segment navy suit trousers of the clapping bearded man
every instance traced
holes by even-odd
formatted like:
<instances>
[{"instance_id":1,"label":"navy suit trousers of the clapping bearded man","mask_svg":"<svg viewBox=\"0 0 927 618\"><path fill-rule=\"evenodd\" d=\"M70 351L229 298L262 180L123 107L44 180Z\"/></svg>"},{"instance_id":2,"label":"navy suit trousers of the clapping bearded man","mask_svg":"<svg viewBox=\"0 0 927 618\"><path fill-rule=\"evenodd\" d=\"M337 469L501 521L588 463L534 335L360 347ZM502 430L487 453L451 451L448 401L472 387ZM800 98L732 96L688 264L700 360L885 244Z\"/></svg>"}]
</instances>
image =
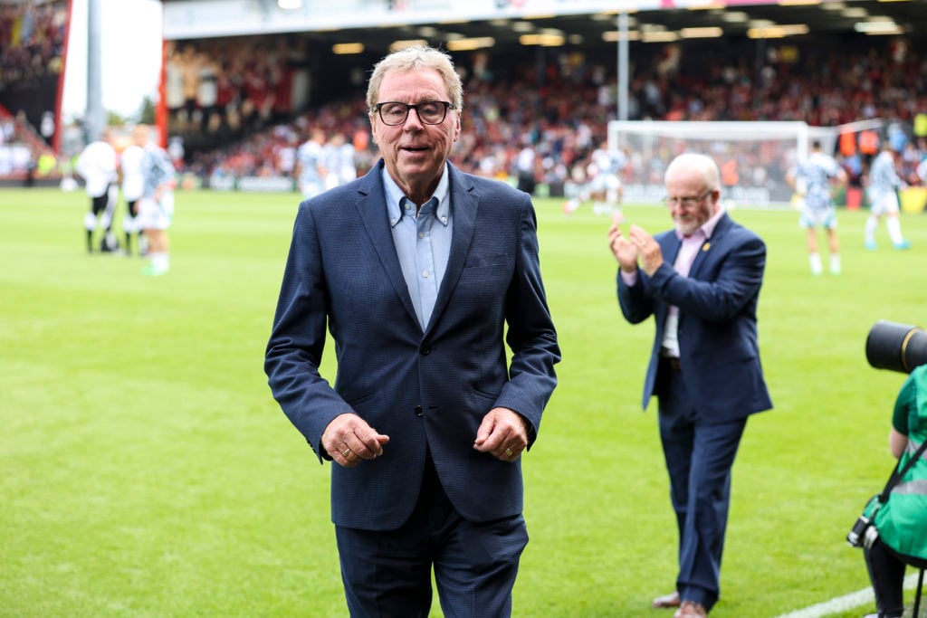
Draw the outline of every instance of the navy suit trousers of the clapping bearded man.
<instances>
[{"instance_id":1,"label":"navy suit trousers of the clapping bearded man","mask_svg":"<svg viewBox=\"0 0 927 618\"><path fill-rule=\"evenodd\" d=\"M684 371L661 359L656 389L670 498L679 524L676 589L682 599L711 610L720 595L730 469L746 419L705 423L687 397Z\"/></svg>"}]
</instances>

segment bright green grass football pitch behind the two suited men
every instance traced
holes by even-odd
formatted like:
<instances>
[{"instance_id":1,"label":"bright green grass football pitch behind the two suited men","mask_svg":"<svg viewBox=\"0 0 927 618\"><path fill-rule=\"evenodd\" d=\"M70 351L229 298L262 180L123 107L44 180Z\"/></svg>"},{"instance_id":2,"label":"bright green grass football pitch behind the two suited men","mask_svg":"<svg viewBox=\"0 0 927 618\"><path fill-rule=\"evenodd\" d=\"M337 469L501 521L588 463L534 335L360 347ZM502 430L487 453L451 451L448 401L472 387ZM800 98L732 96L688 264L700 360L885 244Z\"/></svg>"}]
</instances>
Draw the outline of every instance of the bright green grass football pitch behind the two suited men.
<instances>
[{"instance_id":1,"label":"bright green grass football pitch behind the two suited men","mask_svg":"<svg viewBox=\"0 0 927 618\"><path fill-rule=\"evenodd\" d=\"M514 615L668 618L650 600L673 586L675 524L655 403L639 406L653 325L617 308L608 218L561 201L536 200L564 360L525 460ZM347 614L328 469L262 372L298 195L176 202L171 272L148 278L137 257L85 253L83 192L0 190L0 616ZM768 244L775 410L747 424L712 616L772 618L869 585L844 536L890 471L904 375L864 345L880 319L927 326L927 217L903 215L911 250L882 227L869 252L866 213L842 211L844 272L812 277L794 211L732 215Z\"/></svg>"}]
</instances>

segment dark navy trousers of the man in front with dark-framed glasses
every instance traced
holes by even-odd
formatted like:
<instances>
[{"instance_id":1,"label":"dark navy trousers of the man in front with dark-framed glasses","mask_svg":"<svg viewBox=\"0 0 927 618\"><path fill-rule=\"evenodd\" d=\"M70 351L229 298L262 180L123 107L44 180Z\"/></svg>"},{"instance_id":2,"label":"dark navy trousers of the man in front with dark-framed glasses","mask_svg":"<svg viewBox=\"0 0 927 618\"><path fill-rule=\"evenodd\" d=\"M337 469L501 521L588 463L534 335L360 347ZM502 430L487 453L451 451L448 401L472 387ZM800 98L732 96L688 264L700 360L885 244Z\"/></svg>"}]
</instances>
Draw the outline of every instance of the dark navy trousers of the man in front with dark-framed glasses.
<instances>
[{"instance_id":1,"label":"dark navy trousers of the man in front with dark-framed glasses","mask_svg":"<svg viewBox=\"0 0 927 618\"><path fill-rule=\"evenodd\" d=\"M352 618L427 618L431 569L446 618L504 618L527 546L521 515L469 522L451 505L430 457L409 521L370 532L336 526L341 576Z\"/></svg>"}]
</instances>

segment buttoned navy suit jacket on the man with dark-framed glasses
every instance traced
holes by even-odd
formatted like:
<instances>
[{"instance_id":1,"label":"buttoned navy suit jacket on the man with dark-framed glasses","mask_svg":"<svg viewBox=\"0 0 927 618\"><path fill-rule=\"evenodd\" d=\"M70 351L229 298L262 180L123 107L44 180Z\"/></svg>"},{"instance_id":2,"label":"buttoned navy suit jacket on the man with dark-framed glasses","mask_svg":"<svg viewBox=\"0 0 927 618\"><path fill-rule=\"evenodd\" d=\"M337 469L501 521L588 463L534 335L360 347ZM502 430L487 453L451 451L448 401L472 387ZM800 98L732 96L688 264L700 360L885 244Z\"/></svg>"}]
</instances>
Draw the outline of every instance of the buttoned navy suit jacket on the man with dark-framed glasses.
<instances>
[{"instance_id":1,"label":"buttoned navy suit jacket on the man with dark-framed glasses","mask_svg":"<svg viewBox=\"0 0 927 618\"><path fill-rule=\"evenodd\" d=\"M533 439L556 385L560 349L531 199L448 164L451 253L423 331L387 221L382 170L381 160L299 205L265 357L273 397L320 459L329 459L320 445L326 425L344 412L389 435L381 457L332 466L338 525L400 527L418 498L427 450L465 518L518 514L521 458L498 460L473 444L496 406L527 419ZM326 328L334 386L319 374Z\"/></svg>"}]
</instances>

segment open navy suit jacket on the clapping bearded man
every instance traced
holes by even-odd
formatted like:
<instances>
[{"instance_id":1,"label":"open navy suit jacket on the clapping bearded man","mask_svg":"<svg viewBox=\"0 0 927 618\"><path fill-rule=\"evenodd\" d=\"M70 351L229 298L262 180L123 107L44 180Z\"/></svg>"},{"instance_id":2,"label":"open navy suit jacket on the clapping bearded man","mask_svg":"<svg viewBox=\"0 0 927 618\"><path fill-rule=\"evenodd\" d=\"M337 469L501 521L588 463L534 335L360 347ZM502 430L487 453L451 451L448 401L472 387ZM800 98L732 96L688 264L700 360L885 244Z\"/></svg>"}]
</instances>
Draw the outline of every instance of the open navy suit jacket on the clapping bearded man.
<instances>
[{"instance_id":1,"label":"open navy suit jacket on the clapping bearded man","mask_svg":"<svg viewBox=\"0 0 927 618\"><path fill-rule=\"evenodd\" d=\"M673 270L681 241L675 231L654 236L664 263L628 286L617 277L618 302L632 324L654 316L656 335L642 406L657 387L660 347L670 305L679 308L679 361L692 407L708 422L727 422L769 410L759 359L756 302L766 267L766 245L725 213L699 250L688 277Z\"/></svg>"}]
</instances>

